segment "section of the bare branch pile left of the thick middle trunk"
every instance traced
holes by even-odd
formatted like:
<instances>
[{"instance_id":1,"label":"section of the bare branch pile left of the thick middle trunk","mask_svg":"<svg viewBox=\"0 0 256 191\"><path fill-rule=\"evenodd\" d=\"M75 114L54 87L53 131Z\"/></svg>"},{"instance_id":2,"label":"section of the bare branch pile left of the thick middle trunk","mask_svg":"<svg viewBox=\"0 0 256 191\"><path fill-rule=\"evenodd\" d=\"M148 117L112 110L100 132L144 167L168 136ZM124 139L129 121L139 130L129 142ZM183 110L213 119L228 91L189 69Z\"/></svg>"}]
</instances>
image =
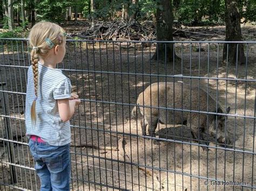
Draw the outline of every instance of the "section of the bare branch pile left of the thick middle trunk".
<instances>
[{"instance_id":1,"label":"section of the bare branch pile left of the thick middle trunk","mask_svg":"<svg viewBox=\"0 0 256 191\"><path fill-rule=\"evenodd\" d=\"M87 22L83 24L89 26ZM155 40L156 26L151 21L97 21L94 27L86 27L83 31L69 34L69 37L90 40Z\"/></svg>"}]
</instances>

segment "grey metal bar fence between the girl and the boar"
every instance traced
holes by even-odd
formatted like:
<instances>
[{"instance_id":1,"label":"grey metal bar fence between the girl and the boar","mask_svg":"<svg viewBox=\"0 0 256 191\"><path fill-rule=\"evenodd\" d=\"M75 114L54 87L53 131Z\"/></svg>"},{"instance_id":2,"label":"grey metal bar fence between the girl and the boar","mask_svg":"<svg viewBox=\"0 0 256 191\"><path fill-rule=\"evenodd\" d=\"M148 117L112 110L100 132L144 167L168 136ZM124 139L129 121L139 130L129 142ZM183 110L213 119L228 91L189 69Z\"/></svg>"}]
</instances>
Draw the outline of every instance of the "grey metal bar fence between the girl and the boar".
<instances>
[{"instance_id":1,"label":"grey metal bar fence between the girl and the boar","mask_svg":"<svg viewBox=\"0 0 256 191\"><path fill-rule=\"evenodd\" d=\"M256 43L226 44L234 63L223 62L225 44L68 40L58 68L82 100L70 121L71 189L256 188ZM0 46L0 187L39 190L24 123L28 41Z\"/></svg>"}]
</instances>

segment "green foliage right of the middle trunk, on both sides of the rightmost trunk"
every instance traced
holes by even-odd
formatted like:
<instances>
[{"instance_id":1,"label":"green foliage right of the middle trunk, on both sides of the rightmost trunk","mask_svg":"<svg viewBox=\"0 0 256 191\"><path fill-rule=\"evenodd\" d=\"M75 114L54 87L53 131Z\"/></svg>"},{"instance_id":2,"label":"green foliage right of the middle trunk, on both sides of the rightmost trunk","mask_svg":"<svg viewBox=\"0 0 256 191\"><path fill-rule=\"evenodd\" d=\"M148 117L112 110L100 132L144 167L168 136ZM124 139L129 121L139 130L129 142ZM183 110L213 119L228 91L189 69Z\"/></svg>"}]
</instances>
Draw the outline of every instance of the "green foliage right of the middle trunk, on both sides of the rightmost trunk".
<instances>
[{"instance_id":1,"label":"green foliage right of the middle trunk, on both sides of the rightmost trunk","mask_svg":"<svg viewBox=\"0 0 256 191\"><path fill-rule=\"evenodd\" d=\"M178 2L178 3L177 3ZM173 0L174 19L185 24L225 24L225 0ZM256 20L256 1L239 0L241 18Z\"/></svg>"}]
</instances>

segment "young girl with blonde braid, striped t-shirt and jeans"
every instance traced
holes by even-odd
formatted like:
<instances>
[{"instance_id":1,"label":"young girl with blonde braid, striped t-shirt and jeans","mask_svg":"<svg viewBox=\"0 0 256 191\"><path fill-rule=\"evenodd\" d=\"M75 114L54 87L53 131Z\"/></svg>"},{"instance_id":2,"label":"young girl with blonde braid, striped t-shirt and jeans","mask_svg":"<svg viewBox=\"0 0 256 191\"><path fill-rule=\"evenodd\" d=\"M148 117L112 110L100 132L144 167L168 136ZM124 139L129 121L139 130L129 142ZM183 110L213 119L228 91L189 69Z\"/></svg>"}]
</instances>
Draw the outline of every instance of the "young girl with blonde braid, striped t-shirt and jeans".
<instances>
[{"instance_id":1,"label":"young girl with blonde braid, striped t-shirt and jeans","mask_svg":"<svg viewBox=\"0 0 256 191\"><path fill-rule=\"evenodd\" d=\"M40 22L29 34L32 65L28 70L25 123L30 152L41 180L41 190L70 190L70 122L78 95L57 69L65 55L62 27Z\"/></svg>"}]
</instances>

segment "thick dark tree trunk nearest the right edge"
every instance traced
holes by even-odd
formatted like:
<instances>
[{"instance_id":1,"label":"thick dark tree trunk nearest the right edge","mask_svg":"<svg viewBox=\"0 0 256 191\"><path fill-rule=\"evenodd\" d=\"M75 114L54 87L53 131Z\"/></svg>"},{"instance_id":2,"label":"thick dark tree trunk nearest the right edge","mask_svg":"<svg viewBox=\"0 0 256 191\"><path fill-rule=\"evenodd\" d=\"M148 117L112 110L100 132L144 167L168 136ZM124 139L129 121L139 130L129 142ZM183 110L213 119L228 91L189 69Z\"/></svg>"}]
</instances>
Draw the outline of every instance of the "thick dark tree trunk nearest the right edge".
<instances>
[{"instance_id":1,"label":"thick dark tree trunk nearest the right edge","mask_svg":"<svg viewBox=\"0 0 256 191\"><path fill-rule=\"evenodd\" d=\"M240 18L238 1L225 0L226 41L242 40ZM228 43L227 49L227 44L225 44L223 48L223 62L227 62L227 53L230 63L235 64L237 62L237 56L238 63L245 63L244 45Z\"/></svg>"}]
</instances>

